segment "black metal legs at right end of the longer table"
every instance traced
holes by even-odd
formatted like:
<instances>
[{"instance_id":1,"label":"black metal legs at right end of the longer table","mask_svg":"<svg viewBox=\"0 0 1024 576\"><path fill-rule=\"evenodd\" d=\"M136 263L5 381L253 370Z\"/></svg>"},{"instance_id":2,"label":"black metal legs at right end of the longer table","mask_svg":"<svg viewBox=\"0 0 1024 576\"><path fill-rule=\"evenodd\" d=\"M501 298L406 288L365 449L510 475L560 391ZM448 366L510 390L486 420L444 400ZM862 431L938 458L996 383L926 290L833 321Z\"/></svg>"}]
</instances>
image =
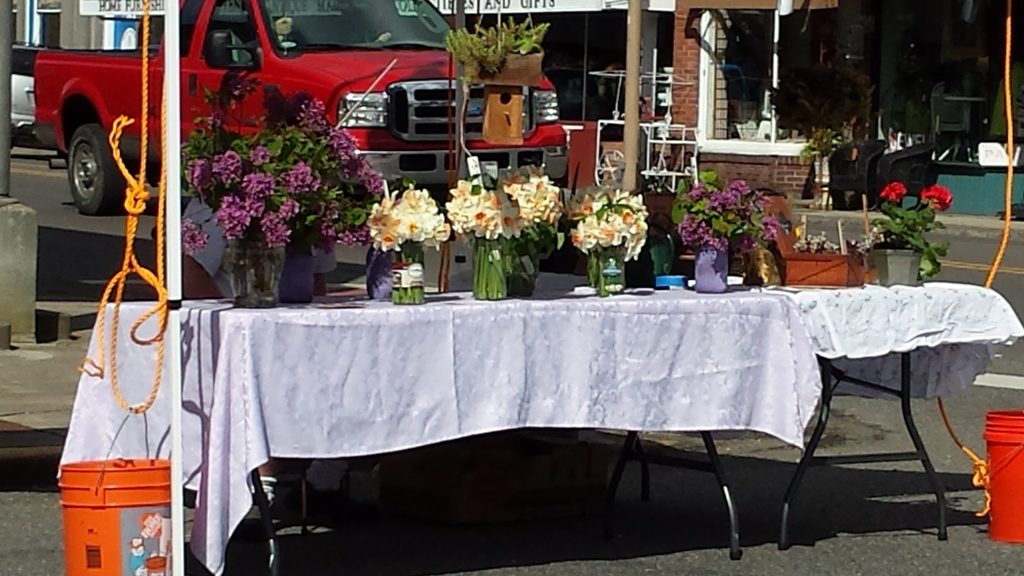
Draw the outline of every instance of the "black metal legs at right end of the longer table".
<instances>
[{"instance_id":1,"label":"black metal legs at right end of the longer table","mask_svg":"<svg viewBox=\"0 0 1024 576\"><path fill-rule=\"evenodd\" d=\"M615 468L611 472L611 481L608 484L608 492L604 504L604 536L611 538L613 533L612 509L615 505L615 494L618 491L618 484L623 480L623 472L626 470L626 463L630 460L640 462L640 499L644 502L650 500L650 468L649 463L663 466L673 466L691 470L714 472L718 486L722 490L722 497L725 500L725 507L729 513L729 559L739 560L743 556L743 550L739 546L739 513L736 505L732 501L732 492L729 490L729 482L725 476L725 466L718 455L715 447L715 439L710 431L701 431L700 438L703 440L707 460L695 460L675 456L660 456L657 454L647 454L644 452L643 444L638 433L631 431L626 435L626 442L618 453L618 460Z\"/></svg>"}]
</instances>

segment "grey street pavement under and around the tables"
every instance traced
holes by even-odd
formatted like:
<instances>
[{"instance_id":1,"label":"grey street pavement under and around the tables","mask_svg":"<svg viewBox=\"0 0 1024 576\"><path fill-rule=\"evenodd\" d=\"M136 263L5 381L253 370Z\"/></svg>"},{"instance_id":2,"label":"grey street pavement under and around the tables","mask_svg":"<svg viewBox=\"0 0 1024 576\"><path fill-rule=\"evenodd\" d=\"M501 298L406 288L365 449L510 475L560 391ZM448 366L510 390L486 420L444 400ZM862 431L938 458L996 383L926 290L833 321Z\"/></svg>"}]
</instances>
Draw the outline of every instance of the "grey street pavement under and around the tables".
<instances>
[{"instance_id":1,"label":"grey street pavement under and around the tables","mask_svg":"<svg viewBox=\"0 0 1024 576\"><path fill-rule=\"evenodd\" d=\"M95 301L121 253L121 218L87 218L68 203L62 170L37 158L15 158L14 196L39 212L40 307L73 317L71 341L0 353L0 575L43 576L63 570L59 502L54 472L85 354ZM823 231L834 212L809 213ZM994 219L994 218L993 218ZM952 242L939 280L981 283L994 253L997 225L950 219ZM968 225L969 224L969 225ZM152 218L143 222L145 234ZM852 224L851 224L852 225ZM846 229L849 236L851 228ZM1018 229L1020 230L1020 229ZM1024 232L1024 231L1022 231ZM140 242L144 253L148 240ZM335 284L356 280L361 253L339 254ZM1024 310L1024 246L1018 236L995 288L1018 314ZM984 453L985 412L1024 408L1024 353L1007 348L992 372L950 399L951 421L965 442ZM842 398L822 442L824 453L906 450L896 403ZM918 466L877 464L812 469L794 509L798 545L777 550L779 505L799 451L759 435L720 441L740 511L743 560L730 562L721 496L712 477L652 467L652 501L638 497L631 465L621 489L615 536L602 538L601 519L459 528L382 516L351 520L335 531L284 537L283 574L349 575L860 575L972 572L1017 575L1024 547L994 543L973 515L981 493L971 488L971 464L949 440L935 404L914 402L918 423L949 489L949 541L935 538L934 499ZM698 450L699 440L652 435L666 450ZM227 573L261 574L263 546L251 526L236 537ZM190 574L203 574L195 564Z\"/></svg>"}]
</instances>

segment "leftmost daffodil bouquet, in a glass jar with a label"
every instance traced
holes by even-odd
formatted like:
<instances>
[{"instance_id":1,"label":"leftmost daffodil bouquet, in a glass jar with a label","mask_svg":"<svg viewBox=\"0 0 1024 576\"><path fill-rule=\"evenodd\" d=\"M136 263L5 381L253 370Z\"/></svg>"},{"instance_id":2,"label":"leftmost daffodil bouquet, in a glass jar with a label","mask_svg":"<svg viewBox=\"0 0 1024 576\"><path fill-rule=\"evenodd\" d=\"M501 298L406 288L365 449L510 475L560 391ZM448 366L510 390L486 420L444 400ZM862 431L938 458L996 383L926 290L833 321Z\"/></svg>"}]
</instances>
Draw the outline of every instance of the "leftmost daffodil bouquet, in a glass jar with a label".
<instances>
[{"instance_id":1,"label":"leftmost daffodil bouquet, in a glass jar with a label","mask_svg":"<svg viewBox=\"0 0 1024 576\"><path fill-rule=\"evenodd\" d=\"M397 254L391 263L391 301L421 304L424 301L423 249L437 249L452 229L437 203L425 190L410 187L395 197L385 193L370 215L370 236L378 250Z\"/></svg>"}]
</instances>

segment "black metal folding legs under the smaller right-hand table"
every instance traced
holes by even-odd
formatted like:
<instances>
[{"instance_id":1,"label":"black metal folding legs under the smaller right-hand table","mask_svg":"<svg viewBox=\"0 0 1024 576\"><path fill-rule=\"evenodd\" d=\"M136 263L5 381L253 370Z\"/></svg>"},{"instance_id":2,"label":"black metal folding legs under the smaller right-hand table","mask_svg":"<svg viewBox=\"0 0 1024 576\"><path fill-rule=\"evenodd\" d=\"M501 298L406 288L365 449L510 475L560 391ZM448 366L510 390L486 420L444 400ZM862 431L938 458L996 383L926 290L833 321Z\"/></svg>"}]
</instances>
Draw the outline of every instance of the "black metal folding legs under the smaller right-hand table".
<instances>
[{"instance_id":1,"label":"black metal folding legs under the smaller right-hand table","mask_svg":"<svg viewBox=\"0 0 1024 576\"><path fill-rule=\"evenodd\" d=\"M800 458L800 463L797 465L796 471L793 474L793 479L790 481L790 486L785 490L785 496L782 499L782 521L779 529L778 547L780 550L784 550L790 547L790 508L793 504L794 499L797 497L797 492L800 490L800 485L804 480L804 476L807 474L807 469L813 465L823 465L823 464L867 464L877 462L921 462L922 466L925 468L925 474L928 476L928 481L932 485L932 491L935 493L935 500L938 506L939 512L939 530L938 536L939 540L945 540L947 538L946 533L946 501L945 501L945 491L942 487L942 482L939 480L938 475L935 472L935 467L932 465L931 459L928 457L928 451L925 449L925 444L921 440L921 434L918 433L918 426L913 422L913 412L910 408L910 353L902 353L900 355L900 387L899 390L894 390L892 388L885 387L881 384L874 382L868 382L855 378L846 374L842 370L836 368L831 361L825 358L818 357L818 366L821 369L821 408L818 413L818 423L814 426L814 431L811 435L811 440L807 444L807 448L804 450L804 455ZM879 453L879 454L858 454L858 455L847 455L847 456L815 456L814 452L818 448L818 443L821 442L821 435L825 430L825 426L828 423L828 415L831 411L831 401L835 396L836 388L842 382L848 382L857 386L868 388L887 396L894 396L900 399L900 408L903 412L903 423L906 426L907 435L910 437L910 441L913 442L914 451L913 452L890 452L890 453Z\"/></svg>"}]
</instances>

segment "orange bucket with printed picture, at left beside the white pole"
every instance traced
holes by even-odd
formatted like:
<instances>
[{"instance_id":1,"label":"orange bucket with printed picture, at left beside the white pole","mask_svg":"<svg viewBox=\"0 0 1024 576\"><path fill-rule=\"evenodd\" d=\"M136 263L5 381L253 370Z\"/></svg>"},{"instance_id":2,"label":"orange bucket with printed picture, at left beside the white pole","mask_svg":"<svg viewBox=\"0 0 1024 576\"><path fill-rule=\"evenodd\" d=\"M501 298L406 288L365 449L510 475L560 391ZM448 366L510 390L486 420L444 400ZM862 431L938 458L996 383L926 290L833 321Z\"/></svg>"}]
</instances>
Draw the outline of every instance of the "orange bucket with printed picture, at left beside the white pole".
<instances>
[{"instance_id":1,"label":"orange bucket with printed picture, at left beside the white pole","mask_svg":"<svg viewBox=\"0 0 1024 576\"><path fill-rule=\"evenodd\" d=\"M169 461L67 464L59 486L68 576L170 573Z\"/></svg>"}]
</instances>

